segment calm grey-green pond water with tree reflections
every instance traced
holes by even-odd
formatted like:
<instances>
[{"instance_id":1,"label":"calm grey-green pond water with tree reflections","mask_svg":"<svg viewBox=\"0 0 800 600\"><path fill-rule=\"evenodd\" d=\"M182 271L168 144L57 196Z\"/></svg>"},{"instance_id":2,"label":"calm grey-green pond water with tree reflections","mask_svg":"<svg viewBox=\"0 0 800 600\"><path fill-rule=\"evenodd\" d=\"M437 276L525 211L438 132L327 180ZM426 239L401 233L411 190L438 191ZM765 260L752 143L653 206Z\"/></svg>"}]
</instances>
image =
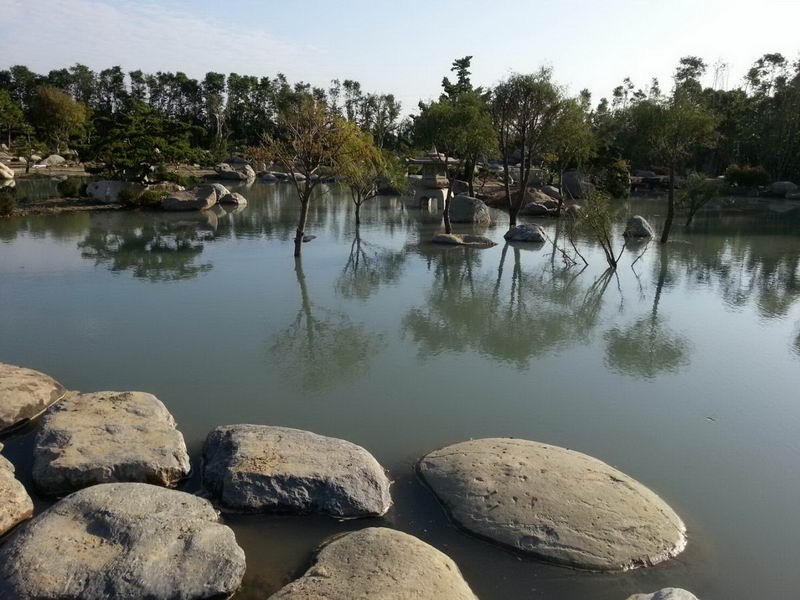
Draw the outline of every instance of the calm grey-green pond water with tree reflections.
<instances>
[{"instance_id":1,"label":"calm grey-green pond water with tree reflections","mask_svg":"<svg viewBox=\"0 0 800 600\"><path fill-rule=\"evenodd\" d=\"M585 269L549 245L503 244L500 212L488 250L425 243L439 216L396 198L366 206L356 235L335 188L314 201L317 239L296 264L291 188L240 191L249 204L230 214L0 220L0 360L72 389L156 394L195 466L212 427L248 422L346 438L390 471L383 519L226 516L248 556L237 598L265 598L325 537L372 525L449 554L483 600L623 600L665 586L703 600L796 595L796 212L708 211L665 248L626 248L607 276L588 240ZM659 227L664 207L617 209L621 231L630 214ZM2 440L29 489L32 433ZM592 574L457 530L414 463L484 436L570 447L639 479L687 522L686 552Z\"/></svg>"}]
</instances>

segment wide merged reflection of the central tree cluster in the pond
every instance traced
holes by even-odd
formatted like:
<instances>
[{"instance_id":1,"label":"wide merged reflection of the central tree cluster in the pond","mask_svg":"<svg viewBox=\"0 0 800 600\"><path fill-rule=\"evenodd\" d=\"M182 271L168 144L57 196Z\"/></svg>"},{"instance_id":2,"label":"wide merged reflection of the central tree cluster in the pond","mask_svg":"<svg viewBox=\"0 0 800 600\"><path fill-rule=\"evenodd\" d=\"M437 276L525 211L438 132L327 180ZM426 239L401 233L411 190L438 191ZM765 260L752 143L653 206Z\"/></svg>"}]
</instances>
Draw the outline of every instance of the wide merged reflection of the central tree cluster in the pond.
<instances>
[{"instance_id":1,"label":"wide merged reflection of the central tree cluster in the pond","mask_svg":"<svg viewBox=\"0 0 800 600\"><path fill-rule=\"evenodd\" d=\"M597 326L612 275L586 285L581 271L545 262L527 272L519 246L506 244L495 277L480 274L480 251L425 249L434 269L425 306L412 308L403 330L421 354L474 349L525 368L530 359L588 339ZM514 264L504 281L508 250Z\"/></svg>"}]
</instances>

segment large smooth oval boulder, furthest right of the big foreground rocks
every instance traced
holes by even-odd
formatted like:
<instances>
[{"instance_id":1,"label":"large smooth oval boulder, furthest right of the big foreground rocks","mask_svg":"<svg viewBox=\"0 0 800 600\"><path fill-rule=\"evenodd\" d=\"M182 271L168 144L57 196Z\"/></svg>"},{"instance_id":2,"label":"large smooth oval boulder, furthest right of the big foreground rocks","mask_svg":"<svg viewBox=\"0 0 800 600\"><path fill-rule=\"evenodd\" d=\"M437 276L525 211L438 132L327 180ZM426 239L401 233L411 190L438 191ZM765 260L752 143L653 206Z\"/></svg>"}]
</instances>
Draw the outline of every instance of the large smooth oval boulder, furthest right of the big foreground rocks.
<instances>
[{"instance_id":1,"label":"large smooth oval boulder, furthest right of the big foreground rocks","mask_svg":"<svg viewBox=\"0 0 800 600\"><path fill-rule=\"evenodd\" d=\"M624 571L686 546L683 522L661 498L580 452L479 439L431 452L419 472L464 529L554 563Z\"/></svg>"}]
</instances>

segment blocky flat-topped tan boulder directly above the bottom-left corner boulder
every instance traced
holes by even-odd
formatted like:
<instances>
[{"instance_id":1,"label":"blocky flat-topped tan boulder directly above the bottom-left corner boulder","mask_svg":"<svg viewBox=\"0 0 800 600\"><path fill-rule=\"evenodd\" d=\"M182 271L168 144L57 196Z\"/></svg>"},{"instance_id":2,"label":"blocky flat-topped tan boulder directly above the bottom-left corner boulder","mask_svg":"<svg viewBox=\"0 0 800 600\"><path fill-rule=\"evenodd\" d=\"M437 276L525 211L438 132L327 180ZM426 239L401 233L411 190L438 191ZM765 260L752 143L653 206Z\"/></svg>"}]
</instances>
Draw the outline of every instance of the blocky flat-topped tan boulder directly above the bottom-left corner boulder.
<instances>
[{"instance_id":1,"label":"blocky flat-topped tan boulder directly above the bottom-left corner boulder","mask_svg":"<svg viewBox=\"0 0 800 600\"><path fill-rule=\"evenodd\" d=\"M171 486L191 468L175 419L143 392L68 396L42 419L33 456L34 483L52 495L98 483Z\"/></svg>"}]
</instances>

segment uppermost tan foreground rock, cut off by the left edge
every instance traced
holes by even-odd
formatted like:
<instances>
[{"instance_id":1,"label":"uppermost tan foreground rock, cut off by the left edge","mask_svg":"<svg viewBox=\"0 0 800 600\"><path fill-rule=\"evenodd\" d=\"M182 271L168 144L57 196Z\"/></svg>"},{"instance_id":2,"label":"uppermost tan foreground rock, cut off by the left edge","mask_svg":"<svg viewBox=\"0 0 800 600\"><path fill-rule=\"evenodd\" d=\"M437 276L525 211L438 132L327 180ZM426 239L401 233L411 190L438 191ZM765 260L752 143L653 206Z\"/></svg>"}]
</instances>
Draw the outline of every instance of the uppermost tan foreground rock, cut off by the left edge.
<instances>
[{"instance_id":1,"label":"uppermost tan foreground rock, cut off by the left edge","mask_svg":"<svg viewBox=\"0 0 800 600\"><path fill-rule=\"evenodd\" d=\"M44 373L0 363L0 431L23 425L64 394L64 387Z\"/></svg>"}]
</instances>

